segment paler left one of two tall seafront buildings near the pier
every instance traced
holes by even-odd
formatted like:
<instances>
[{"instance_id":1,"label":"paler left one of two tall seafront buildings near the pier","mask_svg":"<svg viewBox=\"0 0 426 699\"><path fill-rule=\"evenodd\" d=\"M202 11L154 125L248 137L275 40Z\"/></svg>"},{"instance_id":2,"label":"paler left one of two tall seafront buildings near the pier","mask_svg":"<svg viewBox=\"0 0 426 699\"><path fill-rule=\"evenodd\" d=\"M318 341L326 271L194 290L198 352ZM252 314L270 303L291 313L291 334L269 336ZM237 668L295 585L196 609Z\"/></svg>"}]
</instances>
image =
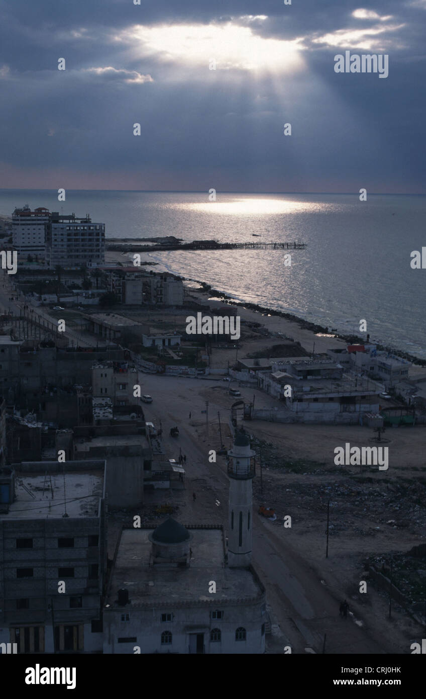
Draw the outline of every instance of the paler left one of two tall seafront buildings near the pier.
<instances>
[{"instance_id":1,"label":"paler left one of two tall seafront buildings near the pier","mask_svg":"<svg viewBox=\"0 0 426 699\"><path fill-rule=\"evenodd\" d=\"M50 212L43 207L31 211L28 204L15 208L12 215L13 247L23 261L28 255L43 261L46 256L47 231L50 226Z\"/></svg>"}]
</instances>

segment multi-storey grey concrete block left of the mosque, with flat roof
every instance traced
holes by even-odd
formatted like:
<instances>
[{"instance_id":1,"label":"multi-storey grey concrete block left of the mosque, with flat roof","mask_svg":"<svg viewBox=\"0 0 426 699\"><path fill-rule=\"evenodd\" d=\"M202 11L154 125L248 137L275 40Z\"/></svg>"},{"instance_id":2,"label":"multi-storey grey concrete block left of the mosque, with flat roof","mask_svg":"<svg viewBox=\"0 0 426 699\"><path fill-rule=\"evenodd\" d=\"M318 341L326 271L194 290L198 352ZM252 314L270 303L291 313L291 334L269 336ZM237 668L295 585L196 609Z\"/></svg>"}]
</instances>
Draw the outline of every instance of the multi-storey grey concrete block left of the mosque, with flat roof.
<instances>
[{"instance_id":1,"label":"multi-storey grey concrete block left of the mosque, with flat roof","mask_svg":"<svg viewBox=\"0 0 426 699\"><path fill-rule=\"evenodd\" d=\"M3 467L0 642L101 652L106 563L104 460Z\"/></svg>"}]
</instances>

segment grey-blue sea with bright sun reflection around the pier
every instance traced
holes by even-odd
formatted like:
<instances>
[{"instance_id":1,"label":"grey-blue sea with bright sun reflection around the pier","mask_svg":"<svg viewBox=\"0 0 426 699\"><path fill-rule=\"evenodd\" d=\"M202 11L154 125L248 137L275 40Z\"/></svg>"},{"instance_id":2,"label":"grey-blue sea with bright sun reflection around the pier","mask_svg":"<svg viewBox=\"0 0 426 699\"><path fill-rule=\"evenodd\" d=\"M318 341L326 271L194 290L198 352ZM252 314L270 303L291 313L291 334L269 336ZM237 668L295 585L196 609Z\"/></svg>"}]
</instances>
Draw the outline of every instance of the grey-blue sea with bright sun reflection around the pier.
<instances>
[{"instance_id":1,"label":"grey-blue sea with bright sun reflection around the pier","mask_svg":"<svg viewBox=\"0 0 426 699\"><path fill-rule=\"evenodd\" d=\"M142 254L170 271L207 282L236 301L292 313L338 333L426 359L425 269L411 252L426 246L426 196L222 194L208 192L0 190L0 215L15 206L89 213L106 237L175 236L184 241L301 242L304 250L170 251ZM426 252L426 250L425 250ZM367 333L360 333L360 322Z\"/></svg>"}]
</instances>

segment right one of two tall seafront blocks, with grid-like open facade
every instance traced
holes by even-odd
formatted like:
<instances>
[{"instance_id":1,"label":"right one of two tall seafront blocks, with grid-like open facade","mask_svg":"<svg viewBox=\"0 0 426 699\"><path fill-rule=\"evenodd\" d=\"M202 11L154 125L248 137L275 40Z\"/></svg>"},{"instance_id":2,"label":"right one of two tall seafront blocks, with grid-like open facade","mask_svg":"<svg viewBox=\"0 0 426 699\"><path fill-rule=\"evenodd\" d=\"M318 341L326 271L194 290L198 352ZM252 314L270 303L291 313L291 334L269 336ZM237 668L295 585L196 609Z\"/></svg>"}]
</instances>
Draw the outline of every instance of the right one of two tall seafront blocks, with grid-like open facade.
<instances>
[{"instance_id":1,"label":"right one of two tall seafront blocks, with grid-like open facade","mask_svg":"<svg viewBox=\"0 0 426 699\"><path fill-rule=\"evenodd\" d=\"M47 236L50 268L96 267L105 261L105 224L53 211Z\"/></svg>"}]
</instances>

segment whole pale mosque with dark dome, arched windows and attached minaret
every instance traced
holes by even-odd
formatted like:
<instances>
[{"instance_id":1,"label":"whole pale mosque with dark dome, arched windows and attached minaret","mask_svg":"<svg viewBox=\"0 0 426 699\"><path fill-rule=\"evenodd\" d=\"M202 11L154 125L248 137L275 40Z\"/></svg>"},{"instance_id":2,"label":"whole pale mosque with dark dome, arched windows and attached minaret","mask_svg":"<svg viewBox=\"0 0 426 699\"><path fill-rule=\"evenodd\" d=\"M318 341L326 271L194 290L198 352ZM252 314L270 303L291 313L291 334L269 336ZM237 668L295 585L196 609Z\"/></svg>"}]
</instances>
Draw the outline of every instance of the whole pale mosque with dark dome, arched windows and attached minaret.
<instances>
[{"instance_id":1,"label":"whole pale mosque with dark dome, arched windows and attached minaret","mask_svg":"<svg viewBox=\"0 0 426 699\"><path fill-rule=\"evenodd\" d=\"M239 434L222 526L124 528L103 610L104 653L265 652L265 588L251 567L253 456Z\"/></svg>"}]
</instances>

